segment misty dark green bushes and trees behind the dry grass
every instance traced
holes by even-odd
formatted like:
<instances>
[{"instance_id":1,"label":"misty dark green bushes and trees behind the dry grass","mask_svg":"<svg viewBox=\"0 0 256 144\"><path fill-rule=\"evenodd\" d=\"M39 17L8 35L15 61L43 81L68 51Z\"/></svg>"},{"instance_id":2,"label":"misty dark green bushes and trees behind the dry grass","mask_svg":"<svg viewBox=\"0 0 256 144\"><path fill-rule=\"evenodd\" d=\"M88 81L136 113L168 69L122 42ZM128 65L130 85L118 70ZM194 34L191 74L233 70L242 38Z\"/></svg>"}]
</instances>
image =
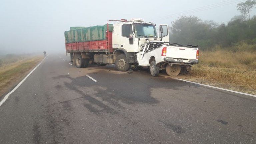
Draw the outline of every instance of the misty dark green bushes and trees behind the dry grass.
<instances>
[{"instance_id":1,"label":"misty dark green bushes and trees behind the dry grass","mask_svg":"<svg viewBox=\"0 0 256 144\"><path fill-rule=\"evenodd\" d=\"M220 25L196 16L181 16L170 27L170 42L199 45L203 50L212 50L217 45L234 48L241 42L255 45L256 16L249 20L235 16L228 24Z\"/></svg>"}]
</instances>

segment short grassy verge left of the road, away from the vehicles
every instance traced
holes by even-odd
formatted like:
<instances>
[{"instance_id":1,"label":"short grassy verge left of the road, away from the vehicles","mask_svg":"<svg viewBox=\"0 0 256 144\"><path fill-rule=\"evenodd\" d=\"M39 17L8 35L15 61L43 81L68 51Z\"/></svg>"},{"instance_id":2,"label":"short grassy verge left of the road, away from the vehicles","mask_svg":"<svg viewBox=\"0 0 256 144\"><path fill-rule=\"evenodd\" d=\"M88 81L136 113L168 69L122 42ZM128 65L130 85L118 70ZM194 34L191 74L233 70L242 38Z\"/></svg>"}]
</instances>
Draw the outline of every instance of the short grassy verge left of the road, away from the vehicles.
<instances>
[{"instance_id":1,"label":"short grassy verge left of the road, away from the vehicles","mask_svg":"<svg viewBox=\"0 0 256 144\"><path fill-rule=\"evenodd\" d=\"M0 96L17 84L41 60L42 56L29 56L0 67Z\"/></svg>"}]
</instances>

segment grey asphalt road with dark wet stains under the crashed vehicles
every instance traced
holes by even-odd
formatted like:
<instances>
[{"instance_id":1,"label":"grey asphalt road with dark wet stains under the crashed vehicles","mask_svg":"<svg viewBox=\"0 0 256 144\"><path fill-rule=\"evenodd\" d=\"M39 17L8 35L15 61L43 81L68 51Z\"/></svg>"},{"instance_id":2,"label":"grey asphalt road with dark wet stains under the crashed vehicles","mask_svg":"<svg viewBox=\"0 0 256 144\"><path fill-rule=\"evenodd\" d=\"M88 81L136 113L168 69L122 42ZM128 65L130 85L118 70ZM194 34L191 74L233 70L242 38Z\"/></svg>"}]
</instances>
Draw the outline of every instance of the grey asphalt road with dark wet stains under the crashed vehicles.
<instances>
[{"instance_id":1,"label":"grey asphalt road with dark wet stains under the crashed vehicles","mask_svg":"<svg viewBox=\"0 0 256 144\"><path fill-rule=\"evenodd\" d=\"M256 97L51 54L0 122L1 144L255 144Z\"/></svg>"}]
</instances>

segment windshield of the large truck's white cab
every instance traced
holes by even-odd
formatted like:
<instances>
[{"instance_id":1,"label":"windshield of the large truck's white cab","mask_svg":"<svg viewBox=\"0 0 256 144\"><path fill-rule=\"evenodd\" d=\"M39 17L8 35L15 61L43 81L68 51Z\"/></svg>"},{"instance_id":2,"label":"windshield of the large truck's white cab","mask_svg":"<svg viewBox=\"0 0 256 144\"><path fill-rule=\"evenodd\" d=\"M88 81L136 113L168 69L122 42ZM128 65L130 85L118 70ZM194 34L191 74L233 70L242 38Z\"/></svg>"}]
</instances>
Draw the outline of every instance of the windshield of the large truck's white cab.
<instances>
[{"instance_id":1,"label":"windshield of the large truck's white cab","mask_svg":"<svg viewBox=\"0 0 256 144\"><path fill-rule=\"evenodd\" d=\"M136 38L157 37L156 27L151 24L134 24Z\"/></svg>"}]
</instances>

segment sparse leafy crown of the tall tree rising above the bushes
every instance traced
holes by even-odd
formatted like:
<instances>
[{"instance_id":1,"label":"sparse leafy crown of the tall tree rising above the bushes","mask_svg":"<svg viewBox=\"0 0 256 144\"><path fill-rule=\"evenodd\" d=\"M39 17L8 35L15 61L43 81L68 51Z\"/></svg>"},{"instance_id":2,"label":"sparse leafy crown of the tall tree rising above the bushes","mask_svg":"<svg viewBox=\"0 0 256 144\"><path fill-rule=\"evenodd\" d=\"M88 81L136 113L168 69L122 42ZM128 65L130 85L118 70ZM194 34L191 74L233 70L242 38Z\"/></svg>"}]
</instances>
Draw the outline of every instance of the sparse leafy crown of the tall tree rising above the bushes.
<instances>
[{"instance_id":1,"label":"sparse leafy crown of the tall tree rising above the bushes","mask_svg":"<svg viewBox=\"0 0 256 144\"><path fill-rule=\"evenodd\" d=\"M246 2L241 2L237 4L237 10L239 10L242 15L246 16L248 20L250 19L250 11L255 8L255 0L247 0Z\"/></svg>"}]
</instances>

